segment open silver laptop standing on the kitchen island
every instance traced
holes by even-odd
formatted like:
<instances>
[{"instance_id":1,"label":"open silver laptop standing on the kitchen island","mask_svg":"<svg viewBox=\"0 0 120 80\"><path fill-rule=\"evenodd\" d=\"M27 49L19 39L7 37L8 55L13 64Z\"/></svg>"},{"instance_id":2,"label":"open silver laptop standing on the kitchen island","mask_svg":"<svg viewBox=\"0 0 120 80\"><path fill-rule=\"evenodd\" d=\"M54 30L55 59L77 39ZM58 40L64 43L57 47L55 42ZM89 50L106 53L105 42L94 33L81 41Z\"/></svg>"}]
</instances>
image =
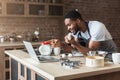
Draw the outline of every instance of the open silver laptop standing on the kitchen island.
<instances>
[{"instance_id":1,"label":"open silver laptop standing on the kitchen island","mask_svg":"<svg viewBox=\"0 0 120 80\"><path fill-rule=\"evenodd\" d=\"M27 52L29 53L30 57L38 62L58 62L59 59L54 58L52 56L42 56L39 51L36 52L36 50L33 48L32 44L28 41L23 41ZM39 55L38 55L39 54Z\"/></svg>"}]
</instances>

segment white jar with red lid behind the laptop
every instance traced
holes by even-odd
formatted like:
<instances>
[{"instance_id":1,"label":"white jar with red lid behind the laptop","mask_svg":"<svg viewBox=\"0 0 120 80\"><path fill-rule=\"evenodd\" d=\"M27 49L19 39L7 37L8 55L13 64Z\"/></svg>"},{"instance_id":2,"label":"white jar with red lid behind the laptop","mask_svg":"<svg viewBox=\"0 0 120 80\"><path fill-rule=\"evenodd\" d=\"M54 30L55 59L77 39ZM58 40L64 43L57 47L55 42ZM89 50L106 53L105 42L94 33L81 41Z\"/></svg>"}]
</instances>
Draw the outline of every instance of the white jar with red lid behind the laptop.
<instances>
[{"instance_id":1,"label":"white jar with red lid behind the laptop","mask_svg":"<svg viewBox=\"0 0 120 80\"><path fill-rule=\"evenodd\" d=\"M50 56L50 54L52 53L52 47L50 45L50 42L42 42L41 46L39 47L39 52L43 56Z\"/></svg>"}]
</instances>

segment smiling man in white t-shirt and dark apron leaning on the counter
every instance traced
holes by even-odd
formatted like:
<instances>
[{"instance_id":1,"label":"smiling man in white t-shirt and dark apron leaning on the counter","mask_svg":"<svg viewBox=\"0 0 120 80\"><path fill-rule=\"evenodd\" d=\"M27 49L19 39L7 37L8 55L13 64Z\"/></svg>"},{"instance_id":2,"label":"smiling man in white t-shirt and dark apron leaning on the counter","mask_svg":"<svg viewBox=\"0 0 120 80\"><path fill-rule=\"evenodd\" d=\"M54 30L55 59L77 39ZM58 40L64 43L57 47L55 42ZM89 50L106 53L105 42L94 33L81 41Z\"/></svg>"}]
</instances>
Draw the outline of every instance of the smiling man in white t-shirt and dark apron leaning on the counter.
<instances>
[{"instance_id":1,"label":"smiling man in white t-shirt and dark apron leaning on the counter","mask_svg":"<svg viewBox=\"0 0 120 80\"><path fill-rule=\"evenodd\" d=\"M116 52L117 47L105 25L99 21L86 22L78 11L70 11L65 15L64 20L68 31L71 33L70 38L65 36L65 42L53 40L53 47L60 46L63 49L77 49L84 55L88 51L107 51Z\"/></svg>"}]
</instances>

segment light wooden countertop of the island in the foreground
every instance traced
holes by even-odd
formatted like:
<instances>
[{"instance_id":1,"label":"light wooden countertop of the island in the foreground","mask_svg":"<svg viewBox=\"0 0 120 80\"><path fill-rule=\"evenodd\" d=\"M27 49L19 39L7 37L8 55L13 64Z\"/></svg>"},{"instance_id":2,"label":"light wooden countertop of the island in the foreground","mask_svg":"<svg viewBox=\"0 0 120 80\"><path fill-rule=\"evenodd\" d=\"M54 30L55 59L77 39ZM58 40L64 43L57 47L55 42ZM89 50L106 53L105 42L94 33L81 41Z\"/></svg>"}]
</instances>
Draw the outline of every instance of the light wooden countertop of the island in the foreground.
<instances>
[{"instance_id":1,"label":"light wooden countertop of the island in the foreground","mask_svg":"<svg viewBox=\"0 0 120 80\"><path fill-rule=\"evenodd\" d=\"M99 68L86 67L84 64L84 57L70 58L73 60L80 60L83 64L81 64L78 69L66 69L62 67L59 62L36 62L35 60L31 59L30 56L26 54L26 52L22 50L5 51L5 53L11 58L22 63L35 72L42 74L50 80L68 80L120 71L120 64L114 65L113 63L105 63L104 67Z\"/></svg>"}]
</instances>

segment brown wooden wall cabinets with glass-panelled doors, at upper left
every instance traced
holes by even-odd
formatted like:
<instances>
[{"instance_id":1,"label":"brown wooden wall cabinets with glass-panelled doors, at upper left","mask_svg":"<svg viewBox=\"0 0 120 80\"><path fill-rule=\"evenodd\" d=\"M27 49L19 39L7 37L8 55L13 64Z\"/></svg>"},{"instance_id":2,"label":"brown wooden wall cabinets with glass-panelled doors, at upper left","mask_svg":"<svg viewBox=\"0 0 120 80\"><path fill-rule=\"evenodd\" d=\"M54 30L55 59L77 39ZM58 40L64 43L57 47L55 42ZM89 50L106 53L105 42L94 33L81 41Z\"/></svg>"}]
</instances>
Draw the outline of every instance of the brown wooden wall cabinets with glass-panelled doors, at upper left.
<instances>
[{"instance_id":1,"label":"brown wooden wall cabinets with glass-panelled doors, at upper left","mask_svg":"<svg viewBox=\"0 0 120 80\"><path fill-rule=\"evenodd\" d=\"M1 16L61 17L63 14L63 0L0 0Z\"/></svg>"}]
</instances>

